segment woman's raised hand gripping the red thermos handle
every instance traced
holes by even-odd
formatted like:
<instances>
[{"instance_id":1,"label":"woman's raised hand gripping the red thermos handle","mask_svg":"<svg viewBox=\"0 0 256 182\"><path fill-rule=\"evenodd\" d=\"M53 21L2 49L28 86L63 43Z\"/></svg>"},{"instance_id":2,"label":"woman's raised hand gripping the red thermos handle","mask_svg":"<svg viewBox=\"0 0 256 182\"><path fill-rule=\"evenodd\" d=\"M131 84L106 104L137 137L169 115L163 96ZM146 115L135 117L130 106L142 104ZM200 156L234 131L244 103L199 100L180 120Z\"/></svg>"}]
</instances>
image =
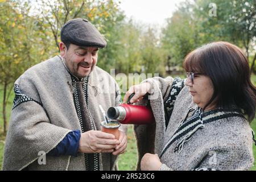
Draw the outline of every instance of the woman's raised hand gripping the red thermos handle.
<instances>
[{"instance_id":1,"label":"woman's raised hand gripping the red thermos handle","mask_svg":"<svg viewBox=\"0 0 256 182\"><path fill-rule=\"evenodd\" d=\"M151 89L151 85L149 82L144 82L143 84L133 85L130 89L126 92L125 97L123 97L123 103L126 103L129 96L133 93L134 96L131 98L130 103L139 102L143 99L143 96L148 93Z\"/></svg>"}]
</instances>

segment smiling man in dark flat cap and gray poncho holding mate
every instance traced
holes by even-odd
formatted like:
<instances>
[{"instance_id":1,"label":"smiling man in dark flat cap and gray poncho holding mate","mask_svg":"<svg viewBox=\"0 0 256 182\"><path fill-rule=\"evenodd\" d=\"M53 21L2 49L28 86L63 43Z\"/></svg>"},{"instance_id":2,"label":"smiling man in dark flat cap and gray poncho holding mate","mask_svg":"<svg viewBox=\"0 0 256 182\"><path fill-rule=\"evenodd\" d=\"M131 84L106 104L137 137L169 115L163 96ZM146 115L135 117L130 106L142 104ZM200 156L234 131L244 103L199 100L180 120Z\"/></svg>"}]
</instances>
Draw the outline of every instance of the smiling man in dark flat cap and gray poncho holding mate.
<instances>
[{"instance_id":1,"label":"smiling man in dark flat cap and gray poncho holding mate","mask_svg":"<svg viewBox=\"0 0 256 182\"><path fill-rule=\"evenodd\" d=\"M96 67L106 42L86 19L61 28L60 56L28 69L14 84L4 170L113 170L127 146L104 133L104 110L121 100L114 79ZM46 156L42 155L46 154Z\"/></svg>"}]
</instances>

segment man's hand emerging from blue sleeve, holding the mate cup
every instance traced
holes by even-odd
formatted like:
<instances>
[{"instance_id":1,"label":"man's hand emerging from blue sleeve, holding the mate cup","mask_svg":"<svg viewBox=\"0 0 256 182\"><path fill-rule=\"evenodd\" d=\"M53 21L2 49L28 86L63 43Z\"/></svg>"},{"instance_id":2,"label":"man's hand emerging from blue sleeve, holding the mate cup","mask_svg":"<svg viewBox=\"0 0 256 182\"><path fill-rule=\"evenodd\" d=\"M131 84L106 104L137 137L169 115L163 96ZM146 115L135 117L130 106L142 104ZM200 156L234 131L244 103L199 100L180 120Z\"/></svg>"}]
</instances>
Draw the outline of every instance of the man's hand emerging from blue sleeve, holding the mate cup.
<instances>
[{"instance_id":1,"label":"man's hand emerging from blue sleeve, holding the mate cup","mask_svg":"<svg viewBox=\"0 0 256 182\"><path fill-rule=\"evenodd\" d=\"M79 152L101 153L113 152L120 142L114 135L102 131L90 130L81 134Z\"/></svg>"}]
</instances>

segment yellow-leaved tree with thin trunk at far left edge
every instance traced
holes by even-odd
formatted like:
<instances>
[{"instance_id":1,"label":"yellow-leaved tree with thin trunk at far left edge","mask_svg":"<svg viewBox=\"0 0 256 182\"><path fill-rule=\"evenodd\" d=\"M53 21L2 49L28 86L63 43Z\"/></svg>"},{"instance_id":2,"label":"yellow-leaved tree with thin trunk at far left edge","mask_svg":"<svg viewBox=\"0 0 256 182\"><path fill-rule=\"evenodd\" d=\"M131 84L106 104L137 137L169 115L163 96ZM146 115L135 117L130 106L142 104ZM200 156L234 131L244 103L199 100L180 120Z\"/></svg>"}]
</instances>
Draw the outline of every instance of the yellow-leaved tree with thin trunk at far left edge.
<instances>
[{"instance_id":1,"label":"yellow-leaved tree with thin trunk at far left edge","mask_svg":"<svg viewBox=\"0 0 256 182\"><path fill-rule=\"evenodd\" d=\"M6 104L10 85L27 68L44 57L43 34L36 31L35 17L29 16L30 6L15 1L0 3L0 84L3 85L3 131L7 131Z\"/></svg>"}]
</instances>

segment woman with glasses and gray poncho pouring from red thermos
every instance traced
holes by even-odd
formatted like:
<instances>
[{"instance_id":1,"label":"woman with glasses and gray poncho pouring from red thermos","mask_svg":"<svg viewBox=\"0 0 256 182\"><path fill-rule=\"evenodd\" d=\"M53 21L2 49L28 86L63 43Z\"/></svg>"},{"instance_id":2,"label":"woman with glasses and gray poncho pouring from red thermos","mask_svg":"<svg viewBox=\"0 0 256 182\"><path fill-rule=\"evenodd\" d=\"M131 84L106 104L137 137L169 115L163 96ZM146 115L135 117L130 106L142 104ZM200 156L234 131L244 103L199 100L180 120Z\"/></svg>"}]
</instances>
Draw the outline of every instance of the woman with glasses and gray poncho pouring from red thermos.
<instances>
[{"instance_id":1,"label":"woman with glasses and gray poncho pouring from red thermos","mask_svg":"<svg viewBox=\"0 0 256 182\"><path fill-rule=\"evenodd\" d=\"M189 53L183 66L187 79L149 78L125 95L124 102L135 93L133 103L150 93L156 120L134 128L138 169L250 169L256 88L245 55L233 44L214 42Z\"/></svg>"}]
</instances>

